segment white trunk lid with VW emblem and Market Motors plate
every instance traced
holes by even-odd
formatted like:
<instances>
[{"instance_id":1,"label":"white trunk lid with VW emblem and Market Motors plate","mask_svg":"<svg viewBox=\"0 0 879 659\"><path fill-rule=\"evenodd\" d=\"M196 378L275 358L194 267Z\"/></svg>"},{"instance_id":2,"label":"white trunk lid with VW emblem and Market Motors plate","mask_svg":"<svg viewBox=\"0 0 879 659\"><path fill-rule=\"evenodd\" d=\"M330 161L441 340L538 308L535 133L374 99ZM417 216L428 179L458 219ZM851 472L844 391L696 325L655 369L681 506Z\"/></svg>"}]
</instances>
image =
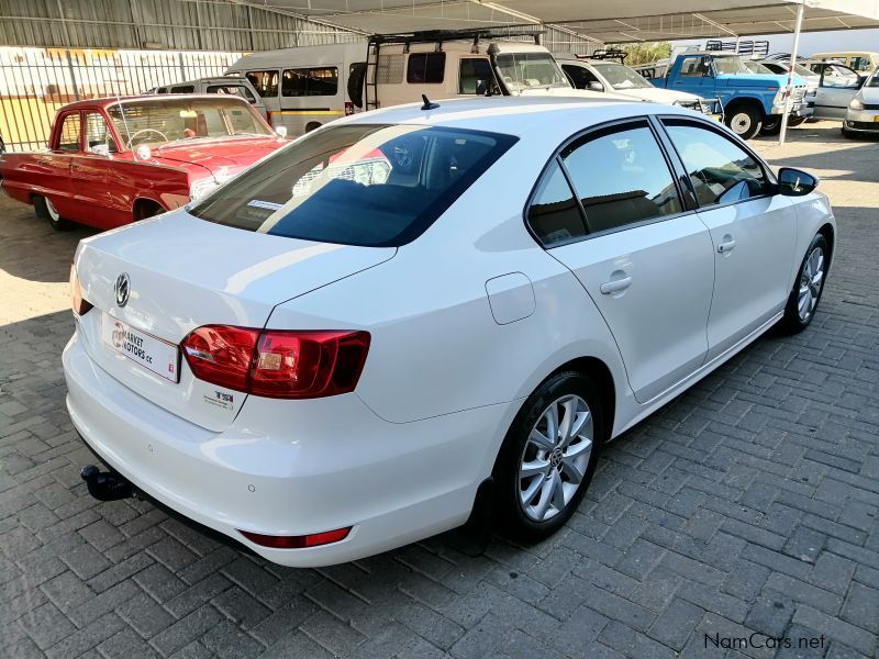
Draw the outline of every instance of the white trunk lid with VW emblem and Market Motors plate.
<instances>
[{"instance_id":1,"label":"white trunk lid with VW emblem and Market Motors plate","mask_svg":"<svg viewBox=\"0 0 879 659\"><path fill-rule=\"evenodd\" d=\"M167 359L179 354L186 335L213 324L262 328L277 304L377 266L396 252L242 231L181 210L80 243L77 273L84 297L94 305L80 317L80 332L91 358L120 386L219 432L235 418L246 394L197 380L182 356L177 372L167 372L173 370ZM129 297L119 305L114 288L122 273ZM130 348L115 334L111 338L113 330L133 331L135 345L160 368L125 356Z\"/></svg>"}]
</instances>

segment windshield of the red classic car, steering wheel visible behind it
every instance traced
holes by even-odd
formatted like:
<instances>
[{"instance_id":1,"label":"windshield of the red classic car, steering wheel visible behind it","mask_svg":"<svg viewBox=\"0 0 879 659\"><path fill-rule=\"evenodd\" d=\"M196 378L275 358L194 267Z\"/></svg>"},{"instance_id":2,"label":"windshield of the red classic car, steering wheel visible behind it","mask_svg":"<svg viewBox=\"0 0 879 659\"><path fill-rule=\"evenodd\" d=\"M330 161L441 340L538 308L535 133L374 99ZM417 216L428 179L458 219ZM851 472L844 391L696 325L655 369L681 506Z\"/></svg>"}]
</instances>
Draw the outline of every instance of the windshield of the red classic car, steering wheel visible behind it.
<instances>
[{"instance_id":1,"label":"windshield of the red classic car, steering wheel visible behind it","mask_svg":"<svg viewBox=\"0 0 879 659\"><path fill-rule=\"evenodd\" d=\"M149 99L107 109L127 148L162 148L183 139L271 135L246 102L236 99Z\"/></svg>"}]
</instances>

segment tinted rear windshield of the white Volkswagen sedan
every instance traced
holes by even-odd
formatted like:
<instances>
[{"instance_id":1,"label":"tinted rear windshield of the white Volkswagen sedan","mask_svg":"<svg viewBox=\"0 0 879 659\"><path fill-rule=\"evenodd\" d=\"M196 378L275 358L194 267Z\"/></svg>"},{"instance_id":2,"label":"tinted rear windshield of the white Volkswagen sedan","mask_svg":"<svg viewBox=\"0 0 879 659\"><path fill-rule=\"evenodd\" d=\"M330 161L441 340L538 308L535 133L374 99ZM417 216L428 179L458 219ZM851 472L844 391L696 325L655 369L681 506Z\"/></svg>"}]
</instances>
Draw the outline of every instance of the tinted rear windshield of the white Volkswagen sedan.
<instances>
[{"instance_id":1,"label":"tinted rear windshield of the white Volkswagen sedan","mask_svg":"<svg viewBox=\"0 0 879 659\"><path fill-rule=\"evenodd\" d=\"M515 142L404 124L329 126L245 171L190 213L290 238L404 245Z\"/></svg>"}]
</instances>

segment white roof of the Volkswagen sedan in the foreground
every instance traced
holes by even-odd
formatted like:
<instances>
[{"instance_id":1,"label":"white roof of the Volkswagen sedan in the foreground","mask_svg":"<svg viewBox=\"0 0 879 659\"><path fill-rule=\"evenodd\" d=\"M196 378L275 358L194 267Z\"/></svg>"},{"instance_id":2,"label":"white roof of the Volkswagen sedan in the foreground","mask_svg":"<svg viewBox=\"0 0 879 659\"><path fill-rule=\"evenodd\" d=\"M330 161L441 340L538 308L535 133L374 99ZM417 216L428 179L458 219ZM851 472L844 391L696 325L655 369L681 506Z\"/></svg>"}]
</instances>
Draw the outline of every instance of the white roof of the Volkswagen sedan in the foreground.
<instances>
[{"instance_id":1,"label":"white roof of the Volkswagen sedan in the foreground","mask_svg":"<svg viewBox=\"0 0 879 659\"><path fill-rule=\"evenodd\" d=\"M526 136L541 126L541 134L569 135L591 125L646 114L692 114L686 109L623 98L481 97L432 100L439 107L422 110L422 103L396 105L360 113L334 123L423 124Z\"/></svg>"}]
</instances>

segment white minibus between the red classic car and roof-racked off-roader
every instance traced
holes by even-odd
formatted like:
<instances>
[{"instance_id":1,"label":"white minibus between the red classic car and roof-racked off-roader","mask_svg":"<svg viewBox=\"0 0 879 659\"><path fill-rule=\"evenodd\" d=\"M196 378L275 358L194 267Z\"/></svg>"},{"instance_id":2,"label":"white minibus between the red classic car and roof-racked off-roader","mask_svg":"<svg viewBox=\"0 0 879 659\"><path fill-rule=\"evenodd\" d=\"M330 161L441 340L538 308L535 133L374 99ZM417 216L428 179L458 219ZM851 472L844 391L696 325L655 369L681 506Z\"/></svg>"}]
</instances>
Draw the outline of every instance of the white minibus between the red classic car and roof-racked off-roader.
<instances>
[{"instance_id":1,"label":"white minibus between the red classic car and roof-racked off-roader","mask_svg":"<svg viewBox=\"0 0 879 659\"><path fill-rule=\"evenodd\" d=\"M348 81L355 68L365 69L366 49L360 42L265 51L245 55L226 75L247 78L266 105L269 124L297 137L354 113Z\"/></svg>"}]
</instances>

